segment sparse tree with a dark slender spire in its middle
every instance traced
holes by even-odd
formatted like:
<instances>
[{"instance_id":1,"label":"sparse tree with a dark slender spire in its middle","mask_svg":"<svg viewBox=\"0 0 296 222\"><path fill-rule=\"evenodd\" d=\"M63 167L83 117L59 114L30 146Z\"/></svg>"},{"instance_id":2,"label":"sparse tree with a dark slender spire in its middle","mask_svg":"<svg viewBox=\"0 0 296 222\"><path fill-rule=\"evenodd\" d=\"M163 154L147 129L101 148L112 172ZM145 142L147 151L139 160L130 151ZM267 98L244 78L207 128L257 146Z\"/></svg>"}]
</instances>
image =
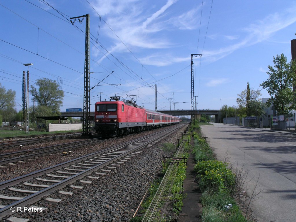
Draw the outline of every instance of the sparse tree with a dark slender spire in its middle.
<instances>
[{"instance_id":1,"label":"sparse tree with a dark slender spire in its middle","mask_svg":"<svg viewBox=\"0 0 296 222\"><path fill-rule=\"evenodd\" d=\"M237 98L237 104L239 108L242 109L245 107L246 109L242 109L245 111L243 116L252 116L254 114L254 102L261 103L260 96L261 91L260 89L254 90L254 88L250 89L250 84L247 84L247 89L244 89L240 94L237 94L239 98ZM259 107L259 105L258 105ZM241 110L241 111L242 111ZM241 113L242 114L242 113Z\"/></svg>"}]
</instances>

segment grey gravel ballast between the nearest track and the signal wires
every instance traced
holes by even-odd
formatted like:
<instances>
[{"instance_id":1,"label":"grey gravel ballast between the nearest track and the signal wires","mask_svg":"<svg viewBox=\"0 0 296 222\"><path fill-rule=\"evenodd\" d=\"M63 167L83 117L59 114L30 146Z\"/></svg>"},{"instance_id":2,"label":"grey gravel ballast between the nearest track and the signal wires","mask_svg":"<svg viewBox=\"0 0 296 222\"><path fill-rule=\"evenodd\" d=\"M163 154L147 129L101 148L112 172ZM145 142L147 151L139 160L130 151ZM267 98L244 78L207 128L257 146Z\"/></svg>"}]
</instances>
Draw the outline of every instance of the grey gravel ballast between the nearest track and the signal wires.
<instances>
[{"instance_id":1,"label":"grey gravel ballast between the nearest track and the signal wires","mask_svg":"<svg viewBox=\"0 0 296 222\"><path fill-rule=\"evenodd\" d=\"M140 135L143 136L142 133ZM61 199L59 203L44 200L35 203L35 206L48 207L43 212L23 212L13 216L28 218L30 221L129 221L149 185L162 170L163 157L167 154L159 148L160 145L167 142L176 144L180 136L180 132L171 134L126 163L120 164L116 169L99 176L99 179L88 179L92 181L91 184L81 182L72 184L83 186L82 189L73 189L70 186L63 189L63 191L73 192L72 196L60 195L57 192L50 195L51 198ZM124 139L131 140L128 137ZM71 159L73 158L76 157ZM62 162L64 161L66 160ZM38 164L36 164L37 167Z\"/></svg>"}]
</instances>

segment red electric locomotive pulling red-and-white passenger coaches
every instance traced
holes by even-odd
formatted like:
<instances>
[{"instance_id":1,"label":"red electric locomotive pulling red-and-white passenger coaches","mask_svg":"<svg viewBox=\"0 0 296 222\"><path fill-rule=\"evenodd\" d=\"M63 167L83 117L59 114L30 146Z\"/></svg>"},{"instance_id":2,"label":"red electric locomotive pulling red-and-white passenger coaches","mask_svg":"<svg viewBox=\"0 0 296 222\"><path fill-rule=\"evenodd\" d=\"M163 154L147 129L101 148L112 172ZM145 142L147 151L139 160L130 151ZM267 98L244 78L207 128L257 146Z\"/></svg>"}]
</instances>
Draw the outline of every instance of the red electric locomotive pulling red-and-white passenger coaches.
<instances>
[{"instance_id":1,"label":"red electric locomotive pulling red-and-white passenger coaches","mask_svg":"<svg viewBox=\"0 0 296 222\"><path fill-rule=\"evenodd\" d=\"M96 102L94 128L102 136L122 136L180 123L180 118L147 110L129 100Z\"/></svg>"}]
</instances>

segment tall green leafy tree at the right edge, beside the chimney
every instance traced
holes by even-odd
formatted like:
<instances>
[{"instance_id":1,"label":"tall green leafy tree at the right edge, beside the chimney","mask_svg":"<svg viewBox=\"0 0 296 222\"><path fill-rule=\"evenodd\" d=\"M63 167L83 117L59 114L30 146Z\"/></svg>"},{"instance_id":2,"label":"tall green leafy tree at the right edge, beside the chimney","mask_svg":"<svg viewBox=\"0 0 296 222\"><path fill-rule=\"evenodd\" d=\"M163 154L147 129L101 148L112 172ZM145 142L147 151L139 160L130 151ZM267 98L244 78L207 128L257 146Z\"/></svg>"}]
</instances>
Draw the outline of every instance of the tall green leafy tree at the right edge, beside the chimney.
<instances>
[{"instance_id":1,"label":"tall green leafy tree at the right edge, beside the chimney","mask_svg":"<svg viewBox=\"0 0 296 222\"><path fill-rule=\"evenodd\" d=\"M291 60L287 63L284 54L276 55L273 60L274 67L268 65L269 71L266 72L269 78L260 84L270 95L267 105L274 105L277 114L287 115L289 110L296 108L295 93L292 90L293 83L296 81L296 63Z\"/></svg>"}]
</instances>

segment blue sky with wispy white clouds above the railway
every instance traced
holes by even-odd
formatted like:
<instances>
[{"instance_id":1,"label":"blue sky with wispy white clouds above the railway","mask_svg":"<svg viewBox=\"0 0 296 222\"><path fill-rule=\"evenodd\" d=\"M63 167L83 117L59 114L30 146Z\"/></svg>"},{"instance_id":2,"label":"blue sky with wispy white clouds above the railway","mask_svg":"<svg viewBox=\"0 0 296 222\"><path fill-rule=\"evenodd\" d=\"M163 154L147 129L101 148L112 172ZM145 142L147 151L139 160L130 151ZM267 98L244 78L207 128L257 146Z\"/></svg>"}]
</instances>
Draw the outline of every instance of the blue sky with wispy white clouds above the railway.
<instances>
[{"instance_id":1,"label":"blue sky with wispy white clouds above the railway","mask_svg":"<svg viewBox=\"0 0 296 222\"><path fill-rule=\"evenodd\" d=\"M20 110L23 64L33 63L30 85L56 80L65 92L61 111L82 108L85 20L76 28L69 17L89 14L90 86L105 78L91 90L91 110L99 92L102 100L137 95L154 110L154 84L158 110L190 109L191 54L202 54L194 57L197 109L237 106L247 82L269 97L259 85L274 56L291 59L295 11L295 1L274 0L3 0L0 82L16 91Z\"/></svg>"}]
</instances>

